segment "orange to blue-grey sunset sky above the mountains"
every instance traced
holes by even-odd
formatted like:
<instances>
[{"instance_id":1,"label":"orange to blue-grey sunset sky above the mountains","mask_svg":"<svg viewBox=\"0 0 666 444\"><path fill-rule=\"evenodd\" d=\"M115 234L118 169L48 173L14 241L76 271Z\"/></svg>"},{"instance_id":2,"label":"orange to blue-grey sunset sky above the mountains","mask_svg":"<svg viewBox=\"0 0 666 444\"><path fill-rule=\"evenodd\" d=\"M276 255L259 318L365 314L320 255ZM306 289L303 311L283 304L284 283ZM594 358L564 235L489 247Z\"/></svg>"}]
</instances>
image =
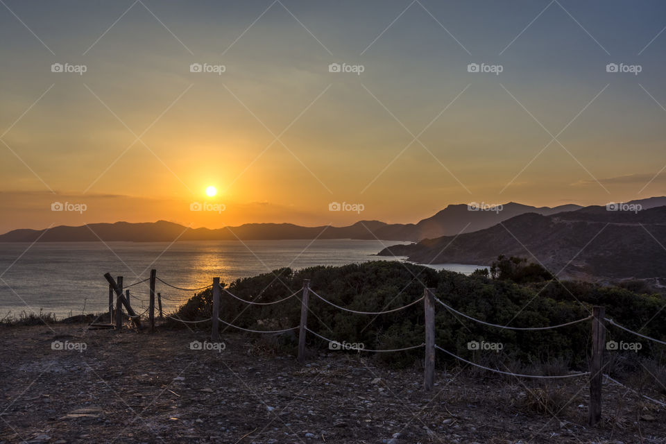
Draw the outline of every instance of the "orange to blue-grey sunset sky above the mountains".
<instances>
[{"instance_id":1,"label":"orange to blue-grey sunset sky above the mountains","mask_svg":"<svg viewBox=\"0 0 666 444\"><path fill-rule=\"evenodd\" d=\"M2 0L0 232L663 196L665 27L663 1Z\"/></svg>"}]
</instances>

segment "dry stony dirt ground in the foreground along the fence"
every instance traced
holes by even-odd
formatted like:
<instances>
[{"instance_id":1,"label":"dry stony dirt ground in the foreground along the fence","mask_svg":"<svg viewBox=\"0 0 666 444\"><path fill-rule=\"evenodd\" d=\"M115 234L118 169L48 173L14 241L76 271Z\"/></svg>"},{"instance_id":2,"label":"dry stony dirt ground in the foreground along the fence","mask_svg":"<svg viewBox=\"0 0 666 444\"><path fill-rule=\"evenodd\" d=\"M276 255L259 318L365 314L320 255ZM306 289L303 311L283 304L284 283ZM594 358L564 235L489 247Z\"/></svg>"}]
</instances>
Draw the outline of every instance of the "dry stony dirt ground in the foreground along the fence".
<instances>
[{"instance_id":1,"label":"dry stony dirt ground in the foreground along the fence","mask_svg":"<svg viewBox=\"0 0 666 444\"><path fill-rule=\"evenodd\" d=\"M614 385L588 427L584 378L539 413L535 382L451 368L425 393L421 370L372 356L321 350L301 366L230 332L225 350L191 350L206 336L1 328L0 443L666 443L665 409Z\"/></svg>"}]
</instances>

